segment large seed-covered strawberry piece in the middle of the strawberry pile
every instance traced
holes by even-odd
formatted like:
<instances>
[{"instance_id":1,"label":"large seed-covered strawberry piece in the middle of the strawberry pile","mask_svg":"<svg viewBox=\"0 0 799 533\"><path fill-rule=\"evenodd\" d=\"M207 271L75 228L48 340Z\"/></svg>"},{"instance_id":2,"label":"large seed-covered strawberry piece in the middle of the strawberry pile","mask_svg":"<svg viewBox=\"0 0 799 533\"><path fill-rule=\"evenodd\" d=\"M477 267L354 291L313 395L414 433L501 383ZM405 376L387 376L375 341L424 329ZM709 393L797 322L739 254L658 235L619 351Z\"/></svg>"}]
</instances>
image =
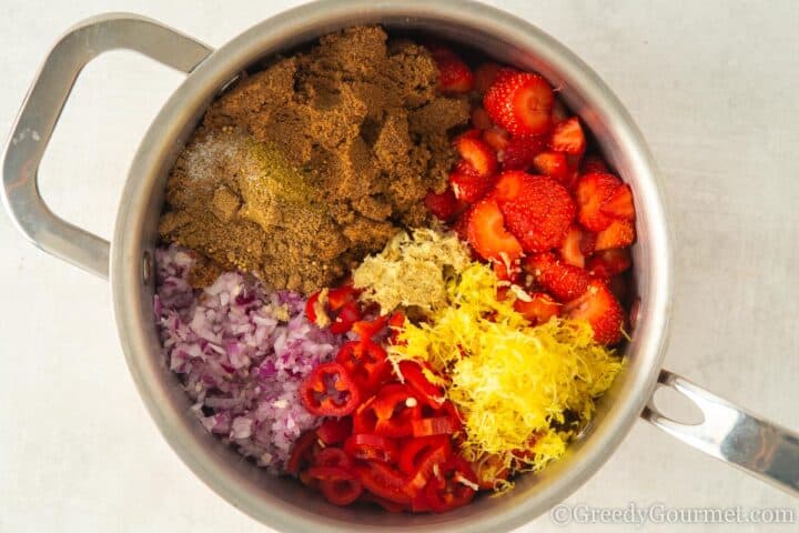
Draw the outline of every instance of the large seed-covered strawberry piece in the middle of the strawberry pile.
<instances>
[{"instance_id":1,"label":"large seed-covered strawberry piece in the middle of the strawberry pile","mask_svg":"<svg viewBox=\"0 0 799 533\"><path fill-rule=\"evenodd\" d=\"M560 183L509 170L499 174L494 193L507 228L526 252L560 245L575 217L572 197Z\"/></svg>"}]
</instances>

